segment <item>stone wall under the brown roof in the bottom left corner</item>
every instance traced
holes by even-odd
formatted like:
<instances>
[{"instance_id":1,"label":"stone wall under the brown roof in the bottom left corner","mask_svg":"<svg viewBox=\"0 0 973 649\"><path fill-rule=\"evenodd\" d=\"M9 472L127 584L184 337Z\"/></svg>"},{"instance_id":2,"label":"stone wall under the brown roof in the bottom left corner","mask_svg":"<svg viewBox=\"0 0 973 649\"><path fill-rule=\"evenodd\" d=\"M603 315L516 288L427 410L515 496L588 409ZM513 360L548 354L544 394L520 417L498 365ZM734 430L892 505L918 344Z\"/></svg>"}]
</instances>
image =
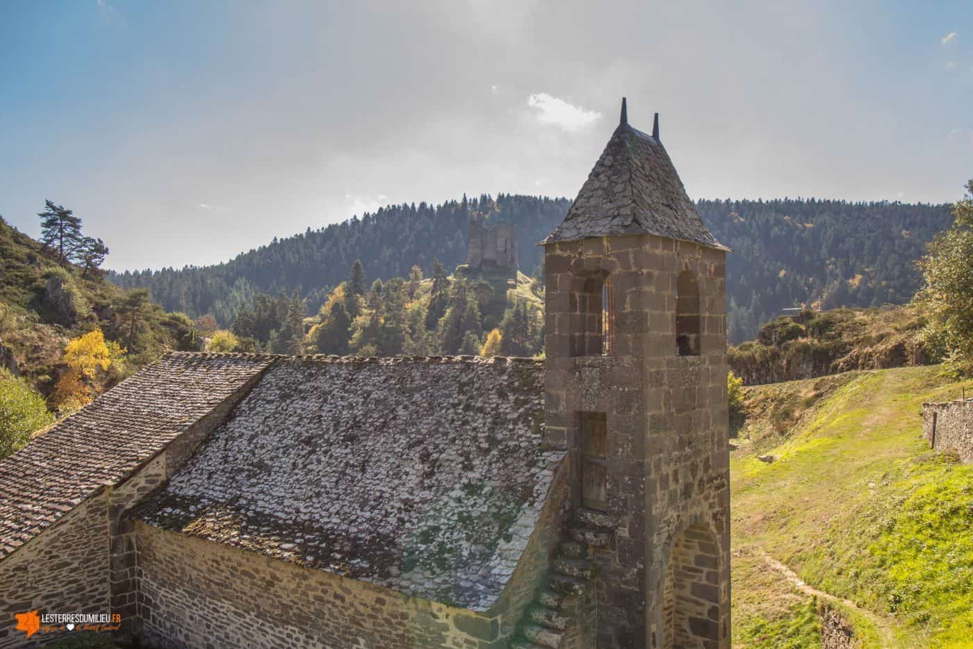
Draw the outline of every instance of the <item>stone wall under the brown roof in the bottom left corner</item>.
<instances>
[{"instance_id":1,"label":"stone wall under the brown roof in the bottom left corner","mask_svg":"<svg viewBox=\"0 0 973 649\"><path fill-rule=\"evenodd\" d=\"M100 493L0 562L0 648L37 646L59 634L25 641L15 613L106 613L108 498Z\"/></svg>"}]
</instances>

